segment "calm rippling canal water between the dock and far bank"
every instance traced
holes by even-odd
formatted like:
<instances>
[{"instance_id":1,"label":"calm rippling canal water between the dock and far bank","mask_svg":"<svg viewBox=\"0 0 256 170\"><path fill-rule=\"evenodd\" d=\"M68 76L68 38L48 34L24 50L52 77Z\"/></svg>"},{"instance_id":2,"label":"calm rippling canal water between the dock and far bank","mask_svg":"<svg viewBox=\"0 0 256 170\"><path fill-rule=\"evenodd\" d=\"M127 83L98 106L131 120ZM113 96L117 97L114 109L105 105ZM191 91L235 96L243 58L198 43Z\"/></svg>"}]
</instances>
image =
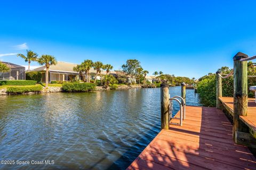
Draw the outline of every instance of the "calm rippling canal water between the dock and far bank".
<instances>
[{"instance_id":1,"label":"calm rippling canal water between the dock and far bank","mask_svg":"<svg viewBox=\"0 0 256 170\"><path fill-rule=\"evenodd\" d=\"M187 90L187 105L200 105L194 90ZM30 165L0 169L125 169L160 123L160 88L1 96L0 160Z\"/></svg>"}]
</instances>

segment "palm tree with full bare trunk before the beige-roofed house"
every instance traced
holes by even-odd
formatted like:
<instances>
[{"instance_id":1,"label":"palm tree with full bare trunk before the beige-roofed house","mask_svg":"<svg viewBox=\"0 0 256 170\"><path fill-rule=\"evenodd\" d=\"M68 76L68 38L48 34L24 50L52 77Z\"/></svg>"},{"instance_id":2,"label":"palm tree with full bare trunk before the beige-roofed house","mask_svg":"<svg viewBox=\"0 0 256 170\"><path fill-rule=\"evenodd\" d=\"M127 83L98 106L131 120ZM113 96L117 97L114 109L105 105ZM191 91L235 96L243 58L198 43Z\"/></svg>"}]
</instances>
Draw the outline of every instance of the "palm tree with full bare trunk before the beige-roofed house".
<instances>
[{"instance_id":1,"label":"palm tree with full bare trunk before the beige-roofed house","mask_svg":"<svg viewBox=\"0 0 256 170\"><path fill-rule=\"evenodd\" d=\"M37 62L41 65L45 64L45 67L46 67L45 88L47 88L48 87L49 67L51 65L56 65L57 64L56 58L52 55L44 54L40 58L38 58Z\"/></svg>"}]
</instances>

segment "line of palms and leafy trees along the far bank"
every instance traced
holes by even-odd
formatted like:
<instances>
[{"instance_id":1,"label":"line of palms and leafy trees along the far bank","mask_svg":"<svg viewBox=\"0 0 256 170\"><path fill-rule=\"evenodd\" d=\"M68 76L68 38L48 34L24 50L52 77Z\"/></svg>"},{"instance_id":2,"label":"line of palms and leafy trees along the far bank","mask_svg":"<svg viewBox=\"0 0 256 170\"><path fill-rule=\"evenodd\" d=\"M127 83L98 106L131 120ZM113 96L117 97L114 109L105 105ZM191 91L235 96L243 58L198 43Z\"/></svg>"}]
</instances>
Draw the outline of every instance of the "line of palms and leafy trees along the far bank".
<instances>
[{"instance_id":1,"label":"line of palms and leafy trees along the far bank","mask_svg":"<svg viewBox=\"0 0 256 170\"><path fill-rule=\"evenodd\" d=\"M46 67L45 87L48 87L49 67L51 65L57 64L56 58L52 55L47 55L47 54L44 54L38 57L38 54L31 50L27 50L26 55L18 54L17 56L23 58L25 62L28 62L28 71L30 71L31 62L38 62L41 65L45 65ZM4 67L4 66L0 65L0 69L1 67ZM100 61L93 62L92 60L85 60L81 64L78 64L77 66L75 66L73 70L80 75L80 77L84 82L91 82L90 69L94 69L96 71L96 76L93 82L96 83L97 77L98 75L100 75L101 86L102 84L105 84L108 86L108 84L113 84L117 82L124 83L127 81L127 76L130 77L130 80L131 80L130 85L134 83L134 80L136 80L138 84L149 83L147 82L147 79L146 79L149 72L147 70L144 70L140 64L140 61L136 59L127 60L126 63L122 65L122 70L117 71L117 72L122 72L125 75L122 75L122 74L116 75L116 77L114 77L113 75L109 75L110 71L113 70L113 68L114 67L111 64L103 64ZM106 71L106 75L104 79L102 79L102 74L101 74L102 71ZM5 70L2 69L1 72L6 72L6 68ZM86 75L86 79L85 77L83 77L83 75ZM195 78L189 79L187 77L175 77L173 74L172 75L164 74L162 71L159 71L159 72L155 71L153 75L155 75L156 77L156 79L154 80L156 83L167 81L170 84L175 85L175 84L180 84L182 82L194 83L195 81Z\"/></svg>"}]
</instances>

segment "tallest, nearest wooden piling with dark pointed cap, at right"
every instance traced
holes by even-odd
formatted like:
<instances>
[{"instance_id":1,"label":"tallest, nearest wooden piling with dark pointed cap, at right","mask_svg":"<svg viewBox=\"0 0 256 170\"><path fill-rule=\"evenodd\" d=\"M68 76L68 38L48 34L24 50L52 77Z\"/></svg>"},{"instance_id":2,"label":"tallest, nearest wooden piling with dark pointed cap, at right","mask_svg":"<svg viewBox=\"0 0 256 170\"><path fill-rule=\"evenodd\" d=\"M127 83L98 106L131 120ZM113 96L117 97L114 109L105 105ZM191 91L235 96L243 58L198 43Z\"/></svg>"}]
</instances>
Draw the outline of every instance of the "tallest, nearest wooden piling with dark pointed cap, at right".
<instances>
[{"instance_id":1,"label":"tallest, nearest wooden piling with dark pointed cap, at right","mask_svg":"<svg viewBox=\"0 0 256 170\"><path fill-rule=\"evenodd\" d=\"M241 62L241 58L248 58L246 54L237 53L234 57L234 125L233 139L236 140L236 131L245 132L245 124L239 120L239 116L247 116L248 91L247 91L247 61Z\"/></svg>"}]
</instances>

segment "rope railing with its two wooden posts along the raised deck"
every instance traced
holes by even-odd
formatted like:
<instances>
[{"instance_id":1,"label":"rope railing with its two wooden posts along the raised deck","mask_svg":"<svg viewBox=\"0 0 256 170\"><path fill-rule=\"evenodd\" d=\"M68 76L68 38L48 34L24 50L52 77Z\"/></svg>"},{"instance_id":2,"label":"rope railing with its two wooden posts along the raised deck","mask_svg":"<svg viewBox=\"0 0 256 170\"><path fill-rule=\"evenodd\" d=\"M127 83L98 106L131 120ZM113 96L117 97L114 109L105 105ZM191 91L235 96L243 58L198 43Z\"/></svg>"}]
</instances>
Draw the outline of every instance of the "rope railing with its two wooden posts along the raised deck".
<instances>
[{"instance_id":1,"label":"rope railing with its two wooden posts along the raised deck","mask_svg":"<svg viewBox=\"0 0 256 170\"><path fill-rule=\"evenodd\" d=\"M248 55L238 52L234 57L234 68L225 77L221 76L221 72L216 72L216 107L223 109L220 98L222 97L222 79L226 79L234 75L234 115L233 115L233 140L240 144L248 146L248 141L252 141L252 135L249 128L242 122L239 116L247 116L248 112L248 90L247 90L247 61L255 59L256 56L248 57ZM250 139L250 140L249 140ZM255 138L253 138L255 141ZM250 145L251 146L251 145Z\"/></svg>"}]
</instances>

